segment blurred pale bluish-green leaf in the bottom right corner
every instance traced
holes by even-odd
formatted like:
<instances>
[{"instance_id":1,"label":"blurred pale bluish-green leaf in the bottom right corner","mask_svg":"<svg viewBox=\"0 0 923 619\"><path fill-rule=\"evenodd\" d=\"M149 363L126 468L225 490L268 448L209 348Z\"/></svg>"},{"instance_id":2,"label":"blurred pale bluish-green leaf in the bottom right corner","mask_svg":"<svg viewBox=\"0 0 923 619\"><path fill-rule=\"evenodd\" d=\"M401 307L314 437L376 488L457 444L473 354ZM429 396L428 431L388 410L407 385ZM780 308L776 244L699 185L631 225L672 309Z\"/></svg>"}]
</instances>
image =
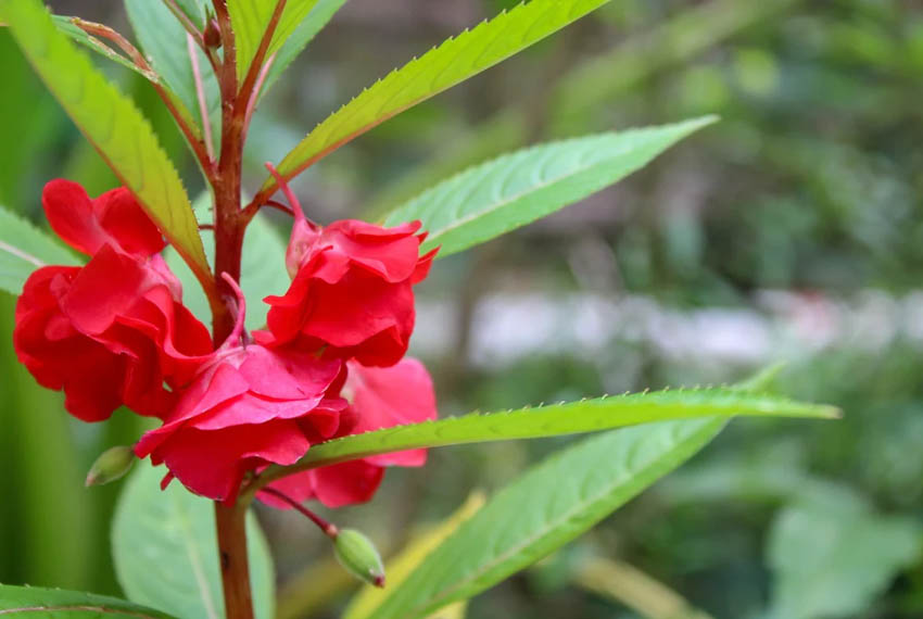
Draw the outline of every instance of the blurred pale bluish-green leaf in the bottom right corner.
<instances>
[{"instance_id":1,"label":"blurred pale bluish-green leaf in the bottom right corner","mask_svg":"<svg viewBox=\"0 0 923 619\"><path fill-rule=\"evenodd\" d=\"M781 510L769 539L773 619L858 617L920 558L918 522L875 514L851 495Z\"/></svg>"}]
</instances>

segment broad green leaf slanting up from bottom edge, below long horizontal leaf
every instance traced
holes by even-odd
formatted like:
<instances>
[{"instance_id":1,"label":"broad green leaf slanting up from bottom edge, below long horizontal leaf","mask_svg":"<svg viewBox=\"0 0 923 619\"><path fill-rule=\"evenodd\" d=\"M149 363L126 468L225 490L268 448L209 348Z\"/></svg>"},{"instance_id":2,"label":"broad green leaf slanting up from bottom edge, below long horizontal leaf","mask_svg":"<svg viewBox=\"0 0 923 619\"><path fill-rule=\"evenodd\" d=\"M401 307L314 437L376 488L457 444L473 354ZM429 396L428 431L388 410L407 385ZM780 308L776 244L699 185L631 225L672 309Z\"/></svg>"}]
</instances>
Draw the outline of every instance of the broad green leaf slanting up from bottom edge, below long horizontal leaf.
<instances>
[{"instance_id":1,"label":"broad green leaf slanting up from bottom edge, below long horizontal leaf","mask_svg":"<svg viewBox=\"0 0 923 619\"><path fill-rule=\"evenodd\" d=\"M678 467L721 431L695 419L593 437L498 492L370 615L423 617L538 561Z\"/></svg>"}]
</instances>

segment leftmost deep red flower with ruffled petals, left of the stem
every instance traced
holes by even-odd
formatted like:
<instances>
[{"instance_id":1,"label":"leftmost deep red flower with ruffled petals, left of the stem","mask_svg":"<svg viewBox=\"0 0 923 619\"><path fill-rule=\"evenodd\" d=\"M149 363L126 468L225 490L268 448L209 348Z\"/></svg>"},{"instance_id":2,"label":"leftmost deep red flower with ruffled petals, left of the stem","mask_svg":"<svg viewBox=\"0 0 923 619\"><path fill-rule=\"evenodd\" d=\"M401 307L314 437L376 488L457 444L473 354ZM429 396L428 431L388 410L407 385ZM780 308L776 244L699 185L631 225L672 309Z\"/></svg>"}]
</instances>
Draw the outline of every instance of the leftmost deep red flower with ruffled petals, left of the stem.
<instances>
[{"instance_id":1,"label":"leftmost deep red flower with ruffled petals, left of the stem","mask_svg":"<svg viewBox=\"0 0 923 619\"><path fill-rule=\"evenodd\" d=\"M180 303L179 282L160 255L156 227L125 189L90 200L78 185L49 182L42 194L52 228L93 257L85 267L48 266L16 303L13 345L36 380L63 389L65 407L99 421L125 404L162 415L164 389L191 377L207 354L207 329Z\"/></svg>"}]
</instances>

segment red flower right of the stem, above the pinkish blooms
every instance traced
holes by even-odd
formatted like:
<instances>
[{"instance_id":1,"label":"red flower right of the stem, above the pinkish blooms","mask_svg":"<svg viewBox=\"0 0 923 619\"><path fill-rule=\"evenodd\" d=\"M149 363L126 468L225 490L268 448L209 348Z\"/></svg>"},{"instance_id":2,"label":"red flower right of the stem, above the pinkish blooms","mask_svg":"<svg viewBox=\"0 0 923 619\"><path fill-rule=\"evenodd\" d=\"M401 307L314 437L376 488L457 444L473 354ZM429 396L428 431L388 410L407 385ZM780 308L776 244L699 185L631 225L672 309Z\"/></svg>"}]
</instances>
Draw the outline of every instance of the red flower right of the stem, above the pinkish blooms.
<instances>
[{"instance_id":1,"label":"red flower right of the stem, above the pinkish blooms","mask_svg":"<svg viewBox=\"0 0 923 619\"><path fill-rule=\"evenodd\" d=\"M256 334L258 341L368 366L397 363L414 329L412 286L435 254L419 256L419 228L353 219L318 228L299 217L286 260L294 279L283 296L265 299L271 337Z\"/></svg>"}]
</instances>

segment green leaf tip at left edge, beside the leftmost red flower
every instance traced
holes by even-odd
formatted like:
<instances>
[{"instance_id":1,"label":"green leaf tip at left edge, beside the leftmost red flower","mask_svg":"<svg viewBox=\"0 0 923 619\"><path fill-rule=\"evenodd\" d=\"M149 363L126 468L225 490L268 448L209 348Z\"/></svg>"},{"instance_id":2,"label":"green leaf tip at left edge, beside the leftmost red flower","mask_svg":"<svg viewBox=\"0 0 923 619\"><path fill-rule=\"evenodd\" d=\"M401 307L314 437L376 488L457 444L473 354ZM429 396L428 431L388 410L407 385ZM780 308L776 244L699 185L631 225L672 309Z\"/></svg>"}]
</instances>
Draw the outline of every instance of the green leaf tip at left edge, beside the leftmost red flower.
<instances>
[{"instance_id":1,"label":"green leaf tip at left edge, beside the leftmost red flower","mask_svg":"<svg viewBox=\"0 0 923 619\"><path fill-rule=\"evenodd\" d=\"M77 258L30 222L0 206L0 289L18 294L39 267L75 266Z\"/></svg>"}]
</instances>

